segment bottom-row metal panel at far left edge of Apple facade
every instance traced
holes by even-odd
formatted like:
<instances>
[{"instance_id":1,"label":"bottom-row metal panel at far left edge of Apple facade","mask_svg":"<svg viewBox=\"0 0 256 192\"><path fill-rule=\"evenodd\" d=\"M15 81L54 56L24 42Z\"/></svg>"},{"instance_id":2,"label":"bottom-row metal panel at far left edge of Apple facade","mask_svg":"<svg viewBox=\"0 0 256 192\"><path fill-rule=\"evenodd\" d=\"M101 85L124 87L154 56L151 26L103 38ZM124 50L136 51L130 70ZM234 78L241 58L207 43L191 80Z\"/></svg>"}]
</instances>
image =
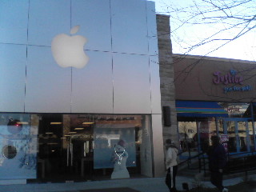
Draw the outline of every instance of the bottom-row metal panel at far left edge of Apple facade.
<instances>
[{"instance_id":1,"label":"bottom-row metal panel at far left edge of Apple facade","mask_svg":"<svg viewBox=\"0 0 256 192\"><path fill-rule=\"evenodd\" d=\"M24 110L25 83L26 46L0 43L1 111Z\"/></svg>"}]
</instances>

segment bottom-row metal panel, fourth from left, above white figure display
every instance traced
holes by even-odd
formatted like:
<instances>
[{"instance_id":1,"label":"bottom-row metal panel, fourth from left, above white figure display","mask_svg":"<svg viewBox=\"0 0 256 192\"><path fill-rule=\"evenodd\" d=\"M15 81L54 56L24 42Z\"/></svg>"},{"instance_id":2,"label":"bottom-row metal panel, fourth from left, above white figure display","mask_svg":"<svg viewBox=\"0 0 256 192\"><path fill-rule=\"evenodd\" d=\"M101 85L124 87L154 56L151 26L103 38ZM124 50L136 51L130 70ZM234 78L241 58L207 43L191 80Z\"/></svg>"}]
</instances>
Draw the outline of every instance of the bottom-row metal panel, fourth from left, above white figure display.
<instances>
[{"instance_id":1,"label":"bottom-row metal panel, fourth from left, above white figure display","mask_svg":"<svg viewBox=\"0 0 256 192\"><path fill-rule=\"evenodd\" d=\"M114 113L150 114L147 55L114 54Z\"/></svg>"}]
</instances>

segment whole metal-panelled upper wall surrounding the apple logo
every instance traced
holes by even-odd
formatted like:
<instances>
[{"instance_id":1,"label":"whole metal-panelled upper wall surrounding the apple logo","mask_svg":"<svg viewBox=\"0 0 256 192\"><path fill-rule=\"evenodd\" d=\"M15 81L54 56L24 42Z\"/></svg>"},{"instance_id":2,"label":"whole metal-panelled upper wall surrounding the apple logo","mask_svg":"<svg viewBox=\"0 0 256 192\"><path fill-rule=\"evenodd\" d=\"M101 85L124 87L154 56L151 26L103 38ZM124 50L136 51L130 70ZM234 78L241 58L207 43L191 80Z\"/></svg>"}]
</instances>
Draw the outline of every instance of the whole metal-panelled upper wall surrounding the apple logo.
<instances>
[{"instance_id":1,"label":"whole metal-panelled upper wall surrounding the apple logo","mask_svg":"<svg viewBox=\"0 0 256 192\"><path fill-rule=\"evenodd\" d=\"M0 12L0 111L161 114L154 2L2 0ZM90 60L62 68L51 41L76 25Z\"/></svg>"}]
</instances>

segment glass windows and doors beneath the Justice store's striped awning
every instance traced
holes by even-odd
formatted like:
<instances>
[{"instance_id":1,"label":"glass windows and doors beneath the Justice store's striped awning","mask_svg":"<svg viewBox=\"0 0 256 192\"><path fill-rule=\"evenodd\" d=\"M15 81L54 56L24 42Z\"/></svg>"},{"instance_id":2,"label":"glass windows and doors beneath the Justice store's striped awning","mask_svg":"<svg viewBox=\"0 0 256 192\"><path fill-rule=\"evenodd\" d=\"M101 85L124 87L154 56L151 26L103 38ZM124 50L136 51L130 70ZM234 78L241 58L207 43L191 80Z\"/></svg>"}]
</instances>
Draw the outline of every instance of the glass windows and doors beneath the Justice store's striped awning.
<instances>
[{"instance_id":1,"label":"glass windows and doors beneath the Justice store's striped awning","mask_svg":"<svg viewBox=\"0 0 256 192\"><path fill-rule=\"evenodd\" d=\"M255 136L250 103L218 102L218 105L223 107L228 117L202 118L194 114L194 118L184 117L184 122L182 118L178 118L180 149L183 156L202 152L205 146L210 145L210 137L216 134L229 153L254 150ZM190 122L186 119L190 119ZM193 130L193 138L190 137L189 130ZM191 151L197 152L192 154Z\"/></svg>"}]
</instances>

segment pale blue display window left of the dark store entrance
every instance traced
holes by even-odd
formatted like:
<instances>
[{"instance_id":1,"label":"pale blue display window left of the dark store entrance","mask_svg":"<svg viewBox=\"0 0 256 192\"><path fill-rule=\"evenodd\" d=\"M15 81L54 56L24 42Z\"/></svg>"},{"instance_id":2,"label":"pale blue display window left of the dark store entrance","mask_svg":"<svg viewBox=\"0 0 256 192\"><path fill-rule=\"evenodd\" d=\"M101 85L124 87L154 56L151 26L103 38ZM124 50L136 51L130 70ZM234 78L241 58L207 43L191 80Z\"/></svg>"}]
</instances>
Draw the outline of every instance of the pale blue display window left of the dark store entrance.
<instances>
[{"instance_id":1,"label":"pale blue display window left of the dark store entrance","mask_svg":"<svg viewBox=\"0 0 256 192\"><path fill-rule=\"evenodd\" d=\"M1 114L0 179L36 178L37 131L35 116Z\"/></svg>"}]
</instances>

